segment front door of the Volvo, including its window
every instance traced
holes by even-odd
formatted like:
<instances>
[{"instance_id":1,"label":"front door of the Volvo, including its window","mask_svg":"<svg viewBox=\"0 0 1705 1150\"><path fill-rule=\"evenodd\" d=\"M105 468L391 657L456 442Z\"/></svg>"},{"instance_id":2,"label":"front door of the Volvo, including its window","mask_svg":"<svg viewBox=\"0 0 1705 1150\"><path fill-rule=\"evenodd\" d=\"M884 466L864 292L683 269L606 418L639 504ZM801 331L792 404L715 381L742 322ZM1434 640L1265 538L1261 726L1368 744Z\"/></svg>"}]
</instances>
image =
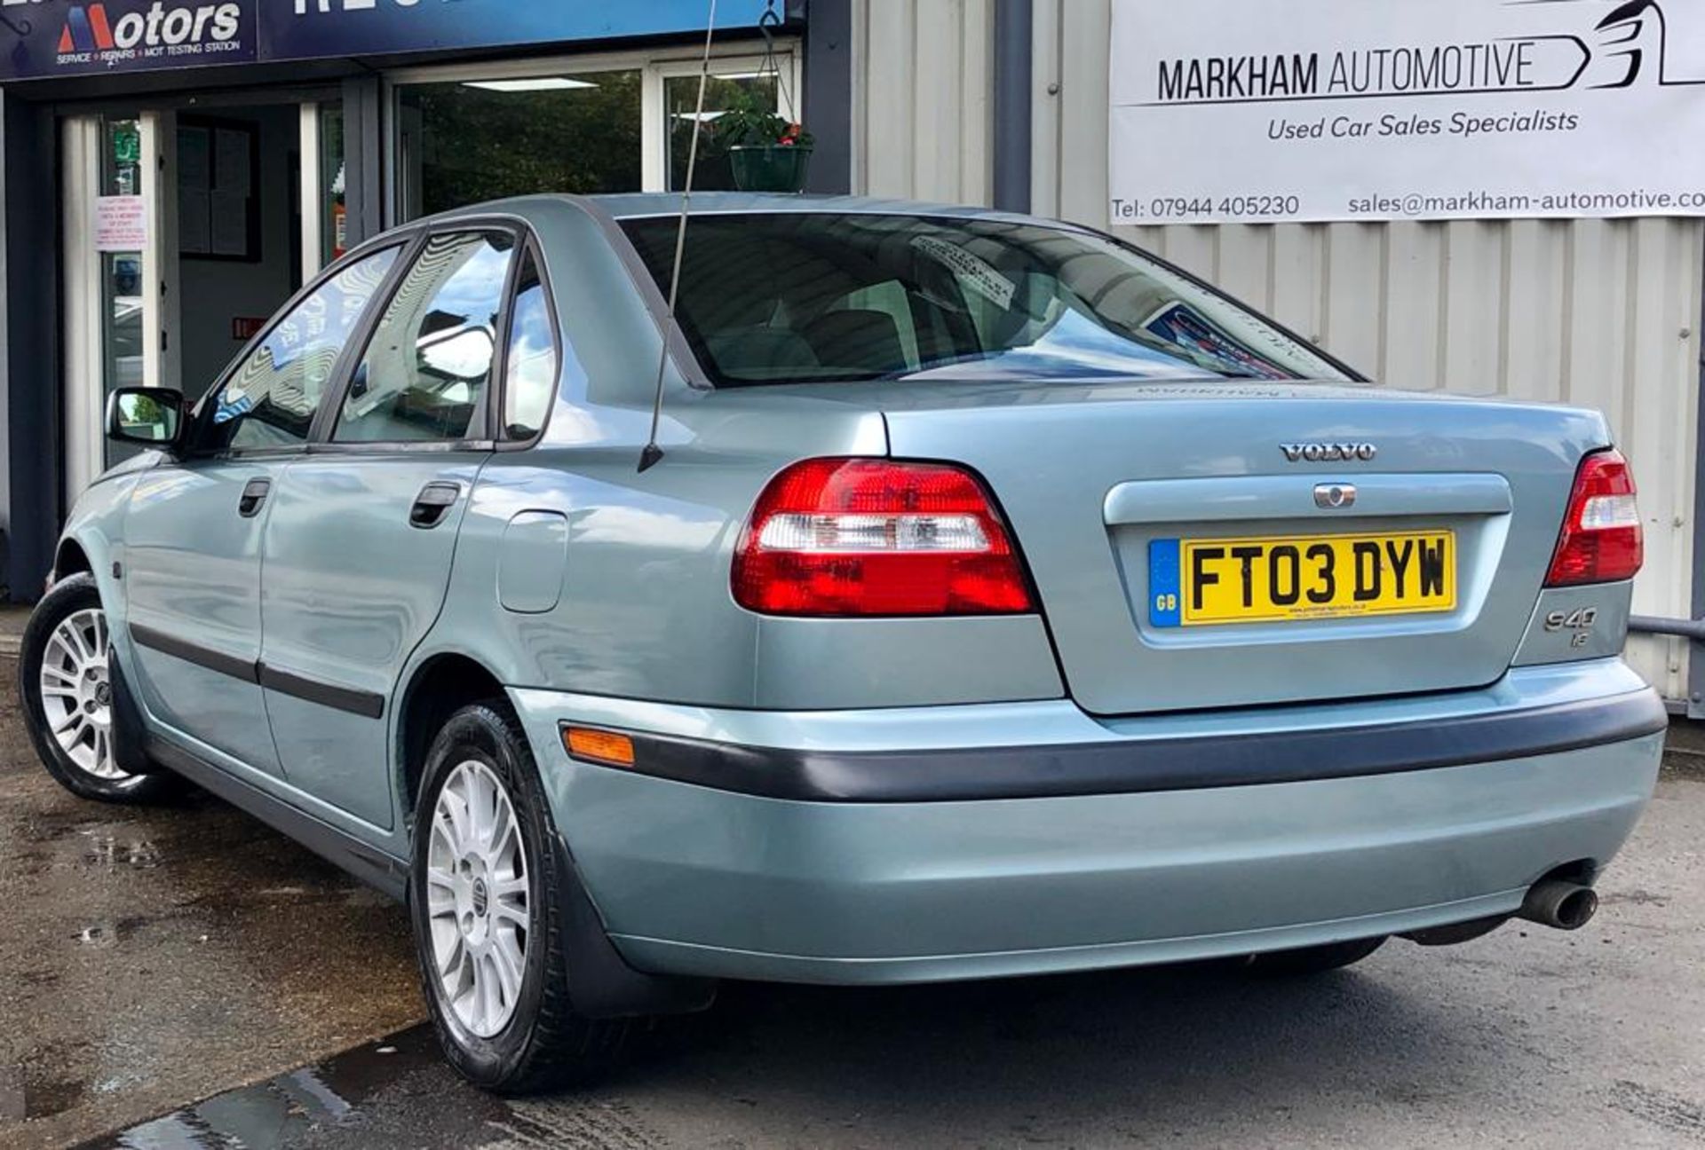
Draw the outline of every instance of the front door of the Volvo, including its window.
<instances>
[{"instance_id":1,"label":"front door of the Volvo, including its window","mask_svg":"<svg viewBox=\"0 0 1705 1150\"><path fill-rule=\"evenodd\" d=\"M123 586L140 690L189 750L280 773L261 693L261 547L385 249L317 285L203 402L186 458L145 472L124 521Z\"/></svg>"}]
</instances>

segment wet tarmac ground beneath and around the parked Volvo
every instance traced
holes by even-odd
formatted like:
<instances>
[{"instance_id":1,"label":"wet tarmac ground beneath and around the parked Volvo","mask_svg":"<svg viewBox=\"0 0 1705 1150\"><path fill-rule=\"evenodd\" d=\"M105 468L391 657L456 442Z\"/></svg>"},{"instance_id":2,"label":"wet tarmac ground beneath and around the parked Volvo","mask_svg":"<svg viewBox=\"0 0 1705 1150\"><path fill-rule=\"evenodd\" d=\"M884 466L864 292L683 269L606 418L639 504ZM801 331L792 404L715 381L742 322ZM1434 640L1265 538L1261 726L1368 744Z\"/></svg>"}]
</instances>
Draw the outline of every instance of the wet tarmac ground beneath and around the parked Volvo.
<instances>
[{"instance_id":1,"label":"wet tarmac ground beneath and around the parked Volvo","mask_svg":"<svg viewBox=\"0 0 1705 1150\"><path fill-rule=\"evenodd\" d=\"M10 675L0 659L9 1150L1705 1147L1705 756L1676 756L1574 935L1393 942L1306 983L730 986L607 1082L503 1102L416 1026L397 908L211 799L58 792Z\"/></svg>"}]
</instances>

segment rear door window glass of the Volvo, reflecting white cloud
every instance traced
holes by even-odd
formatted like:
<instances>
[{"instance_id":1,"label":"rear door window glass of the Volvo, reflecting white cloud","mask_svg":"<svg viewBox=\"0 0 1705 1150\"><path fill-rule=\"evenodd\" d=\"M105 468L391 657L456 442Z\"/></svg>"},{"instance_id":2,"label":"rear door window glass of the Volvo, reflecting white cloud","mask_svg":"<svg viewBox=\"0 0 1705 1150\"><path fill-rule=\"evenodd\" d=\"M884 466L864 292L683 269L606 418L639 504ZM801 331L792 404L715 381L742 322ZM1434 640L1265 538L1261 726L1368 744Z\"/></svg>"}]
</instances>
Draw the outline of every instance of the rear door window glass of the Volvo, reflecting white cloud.
<instances>
[{"instance_id":1,"label":"rear door window glass of the Volvo, reflecting white cloud","mask_svg":"<svg viewBox=\"0 0 1705 1150\"><path fill-rule=\"evenodd\" d=\"M350 377L332 440L467 440L491 382L515 239L435 235Z\"/></svg>"}]
</instances>

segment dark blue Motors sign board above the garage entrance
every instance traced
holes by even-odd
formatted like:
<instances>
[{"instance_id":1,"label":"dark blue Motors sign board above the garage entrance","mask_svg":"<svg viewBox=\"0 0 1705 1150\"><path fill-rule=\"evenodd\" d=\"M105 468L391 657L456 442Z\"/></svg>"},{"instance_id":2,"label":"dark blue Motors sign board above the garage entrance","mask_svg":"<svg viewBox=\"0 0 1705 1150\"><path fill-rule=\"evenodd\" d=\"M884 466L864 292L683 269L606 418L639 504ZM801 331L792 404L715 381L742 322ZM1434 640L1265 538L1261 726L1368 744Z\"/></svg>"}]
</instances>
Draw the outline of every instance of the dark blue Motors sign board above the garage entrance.
<instances>
[{"instance_id":1,"label":"dark blue Motors sign board above the garage entrance","mask_svg":"<svg viewBox=\"0 0 1705 1150\"><path fill-rule=\"evenodd\" d=\"M718 0L755 29L767 0ZM798 17L803 0L777 0ZM0 80L702 32L709 0L0 0ZM10 39L10 46L7 41Z\"/></svg>"}]
</instances>

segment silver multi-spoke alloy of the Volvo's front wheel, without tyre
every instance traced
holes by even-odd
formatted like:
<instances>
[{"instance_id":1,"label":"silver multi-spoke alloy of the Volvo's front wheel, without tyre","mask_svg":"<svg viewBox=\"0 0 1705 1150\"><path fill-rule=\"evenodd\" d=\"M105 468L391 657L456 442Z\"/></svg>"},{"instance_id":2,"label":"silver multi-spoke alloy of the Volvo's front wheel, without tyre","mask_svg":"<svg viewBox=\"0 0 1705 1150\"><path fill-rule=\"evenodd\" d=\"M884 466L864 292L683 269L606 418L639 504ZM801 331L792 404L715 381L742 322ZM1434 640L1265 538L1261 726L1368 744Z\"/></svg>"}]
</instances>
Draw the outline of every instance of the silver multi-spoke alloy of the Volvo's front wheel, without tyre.
<instances>
[{"instance_id":1,"label":"silver multi-spoke alloy of the Volvo's front wheel, without tyre","mask_svg":"<svg viewBox=\"0 0 1705 1150\"><path fill-rule=\"evenodd\" d=\"M113 680L106 612L89 608L60 620L41 656L41 710L60 750L95 779L131 779L113 755Z\"/></svg>"}]
</instances>

